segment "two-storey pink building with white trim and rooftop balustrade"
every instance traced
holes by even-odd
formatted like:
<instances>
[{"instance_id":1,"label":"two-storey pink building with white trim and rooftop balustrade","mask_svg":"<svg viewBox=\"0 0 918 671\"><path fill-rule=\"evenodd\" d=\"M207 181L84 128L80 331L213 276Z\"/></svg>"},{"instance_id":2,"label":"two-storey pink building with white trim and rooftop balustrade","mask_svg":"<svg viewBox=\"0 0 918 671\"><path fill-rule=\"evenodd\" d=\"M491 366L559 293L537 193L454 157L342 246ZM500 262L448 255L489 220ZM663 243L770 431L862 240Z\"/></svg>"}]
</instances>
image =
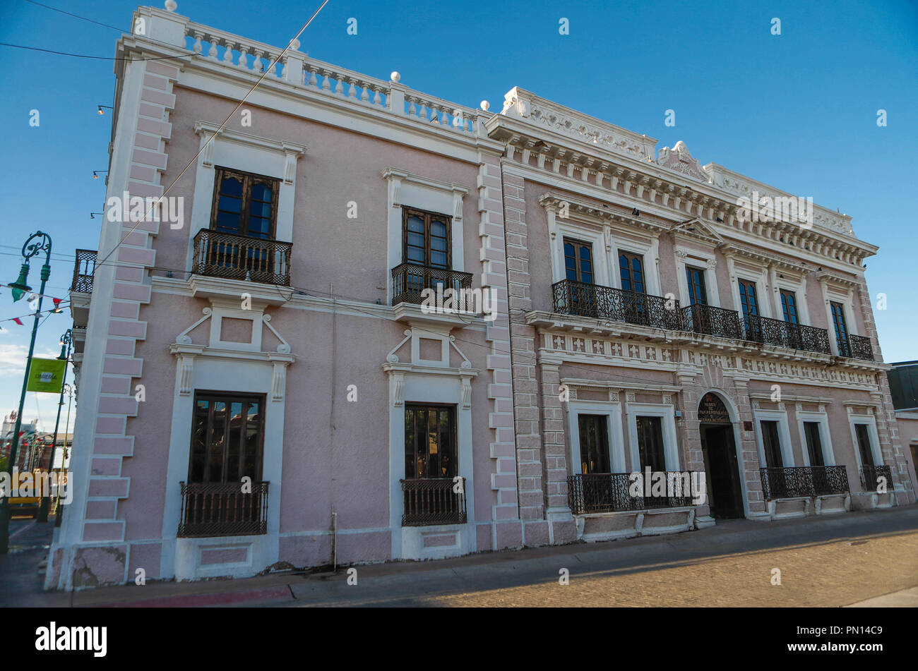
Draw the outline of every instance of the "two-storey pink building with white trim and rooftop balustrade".
<instances>
[{"instance_id":1,"label":"two-storey pink building with white trim and rooftop balustrade","mask_svg":"<svg viewBox=\"0 0 918 671\"><path fill-rule=\"evenodd\" d=\"M133 25L47 588L914 500L848 217L745 221L789 194L518 88ZM644 468L711 504L622 493Z\"/></svg>"}]
</instances>

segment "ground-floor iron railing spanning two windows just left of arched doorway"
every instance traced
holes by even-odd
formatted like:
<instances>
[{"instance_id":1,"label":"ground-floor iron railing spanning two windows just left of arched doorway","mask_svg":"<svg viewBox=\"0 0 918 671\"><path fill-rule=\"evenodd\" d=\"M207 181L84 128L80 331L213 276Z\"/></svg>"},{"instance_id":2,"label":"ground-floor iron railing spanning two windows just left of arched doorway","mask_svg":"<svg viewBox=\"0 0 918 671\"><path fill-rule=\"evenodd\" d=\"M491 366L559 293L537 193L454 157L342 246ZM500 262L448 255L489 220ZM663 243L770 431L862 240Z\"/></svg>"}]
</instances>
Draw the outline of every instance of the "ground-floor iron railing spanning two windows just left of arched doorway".
<instances>
[{"instance_id":1,"label":"ground-floor iron railing spanning two windows just left of arched doorway","mask_svg":"<svg viewBox=\"0 0 918 671\"><path fill-rule=\"evenodd\" d=\"M567 503L576 515L690 506L691 472L667 471L666 495L634 497L631 473L577 473L567 477ZM641 474L642 477L644 474ZM669 494L674 494L669 496Z\"/></svg>"}]
</instances>

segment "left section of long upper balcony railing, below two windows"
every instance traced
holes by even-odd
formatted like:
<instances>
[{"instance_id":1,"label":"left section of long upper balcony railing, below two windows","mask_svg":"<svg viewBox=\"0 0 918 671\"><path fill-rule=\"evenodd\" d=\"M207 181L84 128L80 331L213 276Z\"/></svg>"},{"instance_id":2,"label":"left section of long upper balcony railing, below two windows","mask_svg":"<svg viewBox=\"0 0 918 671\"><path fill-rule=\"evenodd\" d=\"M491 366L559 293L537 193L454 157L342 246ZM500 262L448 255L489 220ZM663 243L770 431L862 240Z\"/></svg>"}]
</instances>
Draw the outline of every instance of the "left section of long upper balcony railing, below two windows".
<instances>
[{"instance_id":1,"label":"left section of long upper balcony railing, below two windows","mask_svg":"<svg viewBox=\"0 0 918 671\"><path fill-rule=\"evenodd\" d=\"M675 299L573 280L555 282L552 292L554 312L558 314L614 319L674 331L682 328L682 314Z\"/></svg>"}]
</instances>

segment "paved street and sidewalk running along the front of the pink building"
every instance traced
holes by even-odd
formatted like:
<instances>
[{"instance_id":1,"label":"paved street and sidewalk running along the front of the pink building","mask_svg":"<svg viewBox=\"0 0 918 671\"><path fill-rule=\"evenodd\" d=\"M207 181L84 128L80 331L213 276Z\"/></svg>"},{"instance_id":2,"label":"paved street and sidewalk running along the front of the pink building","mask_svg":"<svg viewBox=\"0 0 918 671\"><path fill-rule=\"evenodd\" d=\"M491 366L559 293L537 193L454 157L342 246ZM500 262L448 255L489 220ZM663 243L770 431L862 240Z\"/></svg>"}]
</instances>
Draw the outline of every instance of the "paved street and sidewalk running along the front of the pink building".
<instances>
[{"instance_id":1,"label":"paved street and sidewalk running along the front of the pink building","mask_svg":"<svg viewBox=\"0 0 918 671\"><path fill-rule=\"evenodd\" d=\"M284 572L43 592L40 530L13 533L39 545L0 556L0 606L885 606L918 600L918 506L360 566L356 585L339 568L336 575ZM562 586L565 568L570 579ZM772 585L774 568L781 571L780 586Z\"/></svg>"}]
</instances>

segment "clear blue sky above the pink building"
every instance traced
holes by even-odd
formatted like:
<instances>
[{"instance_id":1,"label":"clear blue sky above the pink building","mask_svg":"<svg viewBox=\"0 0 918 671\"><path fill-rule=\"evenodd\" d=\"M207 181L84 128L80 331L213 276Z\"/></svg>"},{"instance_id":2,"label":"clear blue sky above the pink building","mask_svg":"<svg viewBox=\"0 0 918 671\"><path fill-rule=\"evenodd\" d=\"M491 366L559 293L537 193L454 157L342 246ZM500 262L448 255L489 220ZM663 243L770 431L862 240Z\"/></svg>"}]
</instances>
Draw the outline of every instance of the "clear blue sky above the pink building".
<instances>
[{"instance_id":1,"label":"clear blue sky above the pink building","mask_svg":"<svg viewBox=\"0 0 918 671\"><path fill-rule=\"evenodd\" d=\"M42 4L129 27L122 0ZM178 0L178 13L283 47L314 2L276 0L270 11L236 0ZM157 6L162 6L157 4ZM0 41L114 55L118 31L25 0L4 0ZM347 34L349 18L357 35ZM559 35L559 19L570 34ZM771 19L781 35L771 34ZM887 361L918 358L914 334L912 197L918 192L918 5L913 2L394 3L331 0L300 38L301 49L380 79L397 70L424 93L499 111L514 85L660 140L684 140L701 163L838 208L856 235L879 245L868 259ZM111 60L0 47L6 132L0 161L0 278L13 281L18 250L44 230L54 240L48 292L66 296L73 250L95 249L105 197L93 170L107 168L115 76ZM885 109L888 126L877 126ZM28 125L38 109L40 126ZM664 126L667 109L676 126ZM10 206L17 203L15 206ZM38 281L39 265L30 279ZM0 295L0 319L26 314ZM0 323L0 412L17 407L30 323ZM52 315L36 351L56 356L67 314ZM56 398L29 393L26 417L53 428Z\"/></svg>"}]
</instances>

